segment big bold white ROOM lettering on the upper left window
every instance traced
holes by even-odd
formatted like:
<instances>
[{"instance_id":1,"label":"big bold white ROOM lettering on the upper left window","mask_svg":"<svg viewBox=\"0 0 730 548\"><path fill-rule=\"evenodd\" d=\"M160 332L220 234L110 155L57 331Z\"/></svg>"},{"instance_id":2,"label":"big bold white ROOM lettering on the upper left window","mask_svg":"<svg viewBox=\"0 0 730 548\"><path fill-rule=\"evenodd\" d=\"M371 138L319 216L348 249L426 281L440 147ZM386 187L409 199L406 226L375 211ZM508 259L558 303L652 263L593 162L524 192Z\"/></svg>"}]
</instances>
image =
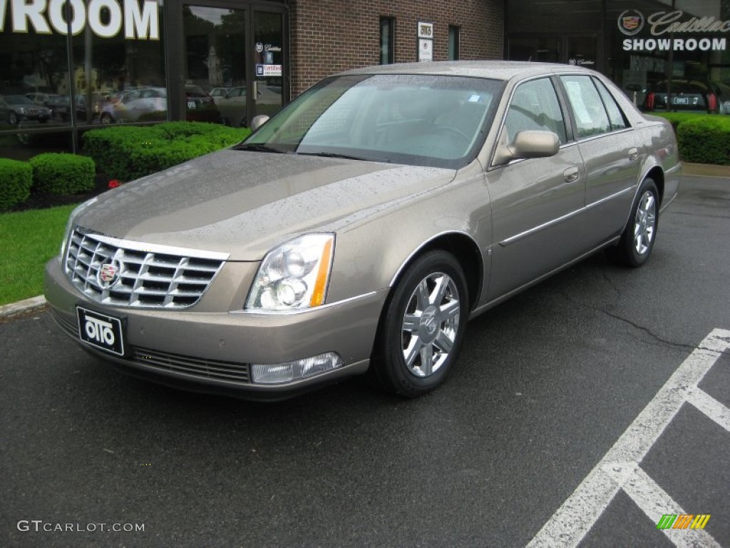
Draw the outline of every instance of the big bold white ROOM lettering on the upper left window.
<instances>
[{"instance_id":1,"label":"big bold white ROOM lettering on the upper left window","mask_svg":"<svg viewBox=\"0 0 730 548\"><path fill-rule=\"evenodd\" d=\"M122 25L126 39L160 39L155 0L69 0L71 34L80 34L88 24L101 38L117 36ZM12 32L26 33L32 26L37 34L69 34L66 0L0 0L0 32L5 31L8 5L12 12Z\"/></svg>"}]
</instances>

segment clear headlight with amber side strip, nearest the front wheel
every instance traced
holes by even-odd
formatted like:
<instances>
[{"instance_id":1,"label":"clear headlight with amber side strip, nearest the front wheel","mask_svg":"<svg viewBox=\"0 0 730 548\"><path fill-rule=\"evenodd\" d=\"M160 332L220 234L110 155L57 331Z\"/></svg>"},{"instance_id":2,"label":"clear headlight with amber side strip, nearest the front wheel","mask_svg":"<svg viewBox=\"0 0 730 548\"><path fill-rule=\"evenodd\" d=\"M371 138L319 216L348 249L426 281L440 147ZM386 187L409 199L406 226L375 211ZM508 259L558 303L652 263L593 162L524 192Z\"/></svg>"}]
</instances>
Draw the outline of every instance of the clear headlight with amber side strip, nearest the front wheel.
<instances>
[{"instance_id":1,"label":"clear headlight with amber side strip, nearest the front wheel","mask_svg":"<svg viewBox=\"0 0 730 548\"><path fill-rule=\"evenodd\" d=\"M334 234L308 234L269 251L248 294L250 310L284 311L323 305L334 256Z\"/></svg>"}]
</instances>

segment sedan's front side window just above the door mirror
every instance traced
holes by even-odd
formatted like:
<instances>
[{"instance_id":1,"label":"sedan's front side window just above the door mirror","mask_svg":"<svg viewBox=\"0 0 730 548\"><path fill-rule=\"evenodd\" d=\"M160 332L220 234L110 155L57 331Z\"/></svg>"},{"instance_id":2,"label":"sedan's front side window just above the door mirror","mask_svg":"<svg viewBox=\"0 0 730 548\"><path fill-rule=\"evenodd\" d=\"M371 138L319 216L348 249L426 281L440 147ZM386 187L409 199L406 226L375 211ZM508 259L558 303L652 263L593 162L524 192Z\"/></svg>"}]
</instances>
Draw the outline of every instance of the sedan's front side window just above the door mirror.
<instances>
[{"instance_id":1,"label":"sedan's front side window just above the door mirror","mask_svg":"<svg viewBox=\"0 0 730 548\"><path fill-rule=\"evenodd\" d=\"M565 120L550 78L520 84L507 110L504 126L510 144L519 132L533 129L556 133L561 144L566 142Z\"/></svg>"}]
</instances>

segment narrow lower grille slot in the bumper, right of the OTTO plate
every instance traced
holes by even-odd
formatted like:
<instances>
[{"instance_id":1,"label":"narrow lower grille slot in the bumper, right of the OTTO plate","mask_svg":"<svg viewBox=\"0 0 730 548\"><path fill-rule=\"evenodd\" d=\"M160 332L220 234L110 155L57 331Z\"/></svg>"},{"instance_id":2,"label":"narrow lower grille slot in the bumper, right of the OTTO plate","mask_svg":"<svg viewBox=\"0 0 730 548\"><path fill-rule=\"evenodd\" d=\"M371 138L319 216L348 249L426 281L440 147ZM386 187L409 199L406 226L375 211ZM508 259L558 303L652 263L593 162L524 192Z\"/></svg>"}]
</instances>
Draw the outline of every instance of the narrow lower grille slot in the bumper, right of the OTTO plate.
<instances>
[{"instance_id":1,"label":"narrow lower grille slot in the bumper, right of the OTTO plate","mask_svg":"<svg viewBox=\"0 0 730 548\"><path fill-rule=\"evenodd\" d=\"M205 359L179 354L170 354L156 350L135 348L132 356L134 362L148 368L185 373L199 378L211 378L218 381L247 383L249 366L247 363L223 362L218 359Z\"/></svg>"}]
</instances>

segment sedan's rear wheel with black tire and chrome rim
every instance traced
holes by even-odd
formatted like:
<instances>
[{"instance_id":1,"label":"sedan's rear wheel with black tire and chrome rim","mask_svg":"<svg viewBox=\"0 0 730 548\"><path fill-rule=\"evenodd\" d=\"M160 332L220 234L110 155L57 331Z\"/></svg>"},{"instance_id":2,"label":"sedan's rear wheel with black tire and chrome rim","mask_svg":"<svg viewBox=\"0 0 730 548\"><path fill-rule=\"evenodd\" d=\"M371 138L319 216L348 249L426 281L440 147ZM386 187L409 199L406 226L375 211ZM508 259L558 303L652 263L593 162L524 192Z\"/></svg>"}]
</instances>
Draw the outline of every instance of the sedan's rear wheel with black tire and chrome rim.
<instances>
[{"instance_id":1,"label":"sedan's rear wheel with black tire and chrome rim","mask_svg":"<svg viewBox=\"0 0 730 548\"><path fill-rule=\"evenodd\" d=\"M659 227L659 193L656 183L646 178L631 205L631 214L621 240L607 255L619 265L640 267L648 261Z\"/></svg>"}]
</instances>

